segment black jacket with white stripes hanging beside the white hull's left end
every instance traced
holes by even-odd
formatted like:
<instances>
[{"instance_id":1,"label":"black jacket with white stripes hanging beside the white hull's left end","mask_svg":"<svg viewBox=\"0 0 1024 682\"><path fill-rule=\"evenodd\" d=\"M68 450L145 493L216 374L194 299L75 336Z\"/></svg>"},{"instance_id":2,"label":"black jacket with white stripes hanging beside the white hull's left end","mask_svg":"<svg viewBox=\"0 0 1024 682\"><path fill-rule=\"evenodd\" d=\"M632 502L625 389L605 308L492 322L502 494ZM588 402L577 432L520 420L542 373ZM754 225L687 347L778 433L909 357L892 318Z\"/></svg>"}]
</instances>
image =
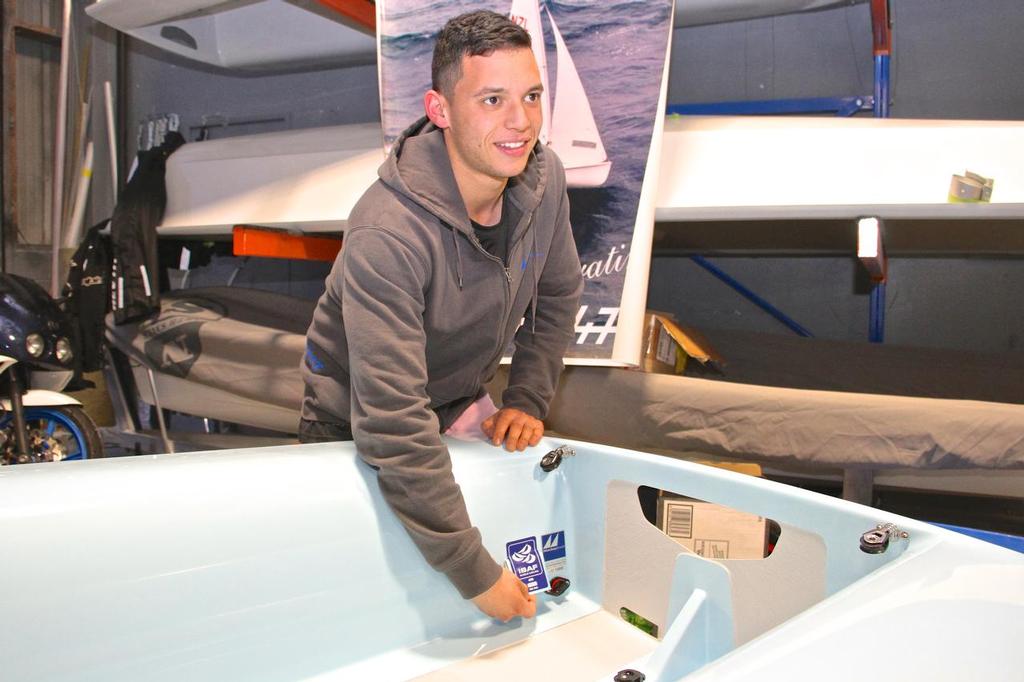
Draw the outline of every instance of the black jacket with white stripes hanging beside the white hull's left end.
<instances>
[{"instance_id":1,"label":"black jacket with white stripes hanging beside the white hull's left end","mask_svg":"<svg viewBox=\"0 0 1024 682\"><path fill-rule=\"evenodd\" d=\"M167 204L167 158L184 141L177 132L169 132L160 146L140 152L138 168L114 209L111 307L117 325L160 310L157 225Z\"/></svg>"}]
</instances>

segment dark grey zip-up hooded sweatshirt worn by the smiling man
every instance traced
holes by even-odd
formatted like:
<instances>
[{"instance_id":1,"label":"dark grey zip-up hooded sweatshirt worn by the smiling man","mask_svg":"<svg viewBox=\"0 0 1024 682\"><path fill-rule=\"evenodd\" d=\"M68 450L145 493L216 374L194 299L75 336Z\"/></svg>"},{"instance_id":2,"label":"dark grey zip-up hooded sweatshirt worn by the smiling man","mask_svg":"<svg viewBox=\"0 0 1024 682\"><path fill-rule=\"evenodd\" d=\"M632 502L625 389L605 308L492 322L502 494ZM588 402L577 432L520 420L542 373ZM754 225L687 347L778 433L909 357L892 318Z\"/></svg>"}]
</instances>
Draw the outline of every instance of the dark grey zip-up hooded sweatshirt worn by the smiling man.
<instances>
[{"instance_id":1,"label":"dark grey zip-up hooded sweatshirt worn by the smiling man","mask_svg":"<svg viewBox=\"0 0 1024 682\"><path fill-rule=\"evenodd\" d=\"M306 336L302 417L350 423L359 456L427 561L465 598L501 566L483 548L441 432L515 339L504 407L547 416L583 278L561 162L535 147L505 201L508 266L479 244L442 132L421 119L352 209ZM520 326L521 323L521 326Z\"/></svg>"}]
</instances>

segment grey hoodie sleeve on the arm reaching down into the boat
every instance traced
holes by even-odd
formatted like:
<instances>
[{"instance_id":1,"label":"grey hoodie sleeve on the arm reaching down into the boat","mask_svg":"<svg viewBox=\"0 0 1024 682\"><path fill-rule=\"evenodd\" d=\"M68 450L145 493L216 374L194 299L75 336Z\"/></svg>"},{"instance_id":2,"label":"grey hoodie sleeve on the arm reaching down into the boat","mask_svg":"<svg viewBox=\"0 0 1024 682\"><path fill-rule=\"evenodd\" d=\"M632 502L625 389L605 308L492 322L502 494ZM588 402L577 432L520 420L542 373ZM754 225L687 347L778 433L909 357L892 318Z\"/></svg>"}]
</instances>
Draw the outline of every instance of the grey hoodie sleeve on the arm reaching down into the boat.
<instances>
[{"instance_id":1,"label":"grey hoodie sleeve on the arm reaching down into the boat","mask_svg":"<svg viewBox=\"0 0 1024 682\"><path fill-rule=\"evenodd\" d=\"M342 314L348 339L352 434L378 467L381 493L427 562L464 598L493 586L501 566L469 520L427 397L425 261L380 228L345 236Z\"/></svg>"}]
</instances>

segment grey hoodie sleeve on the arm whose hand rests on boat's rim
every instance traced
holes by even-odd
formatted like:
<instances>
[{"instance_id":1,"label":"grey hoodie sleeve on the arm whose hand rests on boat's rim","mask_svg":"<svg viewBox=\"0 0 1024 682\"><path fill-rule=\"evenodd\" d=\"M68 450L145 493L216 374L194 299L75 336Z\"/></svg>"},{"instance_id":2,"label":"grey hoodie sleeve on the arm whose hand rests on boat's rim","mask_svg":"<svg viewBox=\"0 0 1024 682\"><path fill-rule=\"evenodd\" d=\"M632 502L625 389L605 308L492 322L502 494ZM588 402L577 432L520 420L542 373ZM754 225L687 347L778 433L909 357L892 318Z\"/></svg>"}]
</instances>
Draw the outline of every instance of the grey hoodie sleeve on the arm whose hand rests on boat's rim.
<instances>
[{"instance_id":1,"label":"grey hoodie sleeve on the arm whose hand rests on boat's rim","mask_svg":"<svg viewBox=\"0 0 1024 682\"><path fill-rule=\"evenodd\" d=\"M562 176L564 177L564 176ZM562 357L572 340L572 326L583 294L583 273L569 226L564 180L548 258L537 285L535 318L515 335L515 351L502 404L544 419L558 387Z\"/></svg>"}]
</instances>

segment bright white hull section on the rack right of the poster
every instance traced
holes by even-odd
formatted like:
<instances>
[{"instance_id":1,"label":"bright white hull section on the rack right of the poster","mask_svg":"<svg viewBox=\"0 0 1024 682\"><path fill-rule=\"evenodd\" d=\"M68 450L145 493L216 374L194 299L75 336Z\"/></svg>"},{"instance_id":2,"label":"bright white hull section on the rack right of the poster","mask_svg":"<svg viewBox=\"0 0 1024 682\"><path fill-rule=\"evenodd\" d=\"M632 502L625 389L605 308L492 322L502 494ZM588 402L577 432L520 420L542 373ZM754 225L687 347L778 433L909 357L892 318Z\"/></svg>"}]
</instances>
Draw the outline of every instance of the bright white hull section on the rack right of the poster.
<instances>
[{"instance_id":1,"label":"bright white hull section on the rack right of the poster","mask_svg":"<svg viewBox=\"0 0 1024 682\"><path fill-rule=\"evenodd\" d=\"M669 117L658 221L1024 216L1024 123ZM949 204L953 173L995 179Z\"/></svg>"}]
</instances>

